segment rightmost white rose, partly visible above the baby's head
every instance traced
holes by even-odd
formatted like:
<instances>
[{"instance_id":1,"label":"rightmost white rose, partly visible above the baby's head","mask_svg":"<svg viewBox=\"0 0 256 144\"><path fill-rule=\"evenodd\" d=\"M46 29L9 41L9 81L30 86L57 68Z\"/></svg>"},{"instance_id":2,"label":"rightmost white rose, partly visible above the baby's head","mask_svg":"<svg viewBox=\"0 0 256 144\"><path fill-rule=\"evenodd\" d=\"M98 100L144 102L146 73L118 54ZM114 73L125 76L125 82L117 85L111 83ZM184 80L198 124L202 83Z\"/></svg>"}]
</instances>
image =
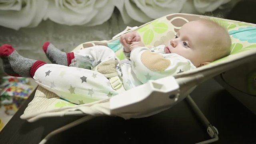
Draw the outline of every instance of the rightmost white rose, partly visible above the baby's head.
<instances>
[{"instance_id":1,"label":"rightmost white rose, partly visible above the baby's head","mask_svg":"<svg viewBox=\"0 0 256 144\"><path fill-rule=\"evenodd\" d=\"M228 3L230 0L194 0L196 10L202 14L212 12L222 4Z\"/></svg>"}]
</instances>

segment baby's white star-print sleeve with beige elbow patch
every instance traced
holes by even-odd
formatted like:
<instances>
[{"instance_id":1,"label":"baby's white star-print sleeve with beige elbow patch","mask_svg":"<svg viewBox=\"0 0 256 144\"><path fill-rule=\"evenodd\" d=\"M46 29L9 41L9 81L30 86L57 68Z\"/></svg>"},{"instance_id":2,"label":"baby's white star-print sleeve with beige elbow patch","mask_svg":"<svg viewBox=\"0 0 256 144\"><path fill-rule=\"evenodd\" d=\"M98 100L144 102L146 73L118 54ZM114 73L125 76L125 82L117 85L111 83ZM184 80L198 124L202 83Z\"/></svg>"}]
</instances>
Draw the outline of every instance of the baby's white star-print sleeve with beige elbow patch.
<instances>
[{"instance_id":1,"label":"baby's white star-print sleeve with beige elbow patch","mask_svg":"<svg viewBox=\"0 0 256 144\"><path fill-rule=\"evenodd\" d=\"M134 74L142 83L191 69L189 60L176 54L151 52L147 47L133 49L130 60Z\"/></svg>"}]
</instances>

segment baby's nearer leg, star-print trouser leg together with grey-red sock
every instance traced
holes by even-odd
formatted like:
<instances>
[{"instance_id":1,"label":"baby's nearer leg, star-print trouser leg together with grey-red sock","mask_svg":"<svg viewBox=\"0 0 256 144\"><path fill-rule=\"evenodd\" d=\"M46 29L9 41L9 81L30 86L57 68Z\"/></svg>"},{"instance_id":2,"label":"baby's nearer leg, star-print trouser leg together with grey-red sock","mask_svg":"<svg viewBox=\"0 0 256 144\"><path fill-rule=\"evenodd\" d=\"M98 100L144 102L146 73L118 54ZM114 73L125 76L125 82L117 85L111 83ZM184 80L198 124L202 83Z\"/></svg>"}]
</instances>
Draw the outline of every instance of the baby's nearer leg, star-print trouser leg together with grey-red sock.
<instances>
[{"instance_id":1,"label":"baby's nearer leg, star-print trouser leg together with grey-red sock","mask_svg":"<svg viewBox=\"0 0 256 144\"><path fill-rule=\"evenodd\" d=\"M0 47L0 58L7 74L32 77L40 86L75 104L117 94L99 72L24 58L10 45Z\"/></svg>"}]
</instances>

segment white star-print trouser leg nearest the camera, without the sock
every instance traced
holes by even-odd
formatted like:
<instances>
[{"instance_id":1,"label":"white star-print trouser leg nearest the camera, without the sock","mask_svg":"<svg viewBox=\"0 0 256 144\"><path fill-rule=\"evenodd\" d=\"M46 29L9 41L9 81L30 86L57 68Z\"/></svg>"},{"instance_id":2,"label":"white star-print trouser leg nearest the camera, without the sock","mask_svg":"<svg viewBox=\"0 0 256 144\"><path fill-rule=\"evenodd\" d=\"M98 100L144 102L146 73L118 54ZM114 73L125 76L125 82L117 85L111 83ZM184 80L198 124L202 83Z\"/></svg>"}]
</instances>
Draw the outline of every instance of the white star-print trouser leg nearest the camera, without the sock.
<instances>
[{"instance_id":1,"label":"white star-print trouser leg nearest the camera, without the sock","mask_svg":"<svg viewBox=\"0 0 256 144\"><path fill-rule=\"evenodd\" d=\"M94 102L118 94L109 80L92 70L44 64L34 75L40 86L75 104Z\"/></svg>"}]
</instances>

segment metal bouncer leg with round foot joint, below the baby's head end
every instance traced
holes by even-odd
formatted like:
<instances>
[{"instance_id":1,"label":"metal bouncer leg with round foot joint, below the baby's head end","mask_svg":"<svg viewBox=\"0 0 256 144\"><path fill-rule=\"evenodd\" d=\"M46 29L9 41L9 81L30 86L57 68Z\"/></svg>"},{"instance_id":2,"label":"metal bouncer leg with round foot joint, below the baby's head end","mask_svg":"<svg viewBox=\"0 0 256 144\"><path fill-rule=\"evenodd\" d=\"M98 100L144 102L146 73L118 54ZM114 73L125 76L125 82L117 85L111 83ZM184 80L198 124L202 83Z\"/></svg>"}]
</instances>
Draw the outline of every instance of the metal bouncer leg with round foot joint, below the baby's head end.
<instances>
[{"instance_id":1,"label":"metal bouncer leg with round foot joint, below the baby's head end","mask_svg":"<svg viewBox=\"0 0 256 144\"><path fill-rule=\"evenodd\" d=\"M210 122L204 116L202 111L198 108L198 106L196 105L196 103L194 102L194 100L191 98L190 95L188 95L186 97L186 101L191 106L191 108L195 112L196 116L204 123L204 126L206 126L206 128L207 128L207 133L212 138L210 140L205 140L205 141L202 141L202 142L198 142L196 144L210 144L212 142L218 141L219 140L218 130L214 126L212 126L212 124L210 124Z\"/></svg>"}]
</instances>

